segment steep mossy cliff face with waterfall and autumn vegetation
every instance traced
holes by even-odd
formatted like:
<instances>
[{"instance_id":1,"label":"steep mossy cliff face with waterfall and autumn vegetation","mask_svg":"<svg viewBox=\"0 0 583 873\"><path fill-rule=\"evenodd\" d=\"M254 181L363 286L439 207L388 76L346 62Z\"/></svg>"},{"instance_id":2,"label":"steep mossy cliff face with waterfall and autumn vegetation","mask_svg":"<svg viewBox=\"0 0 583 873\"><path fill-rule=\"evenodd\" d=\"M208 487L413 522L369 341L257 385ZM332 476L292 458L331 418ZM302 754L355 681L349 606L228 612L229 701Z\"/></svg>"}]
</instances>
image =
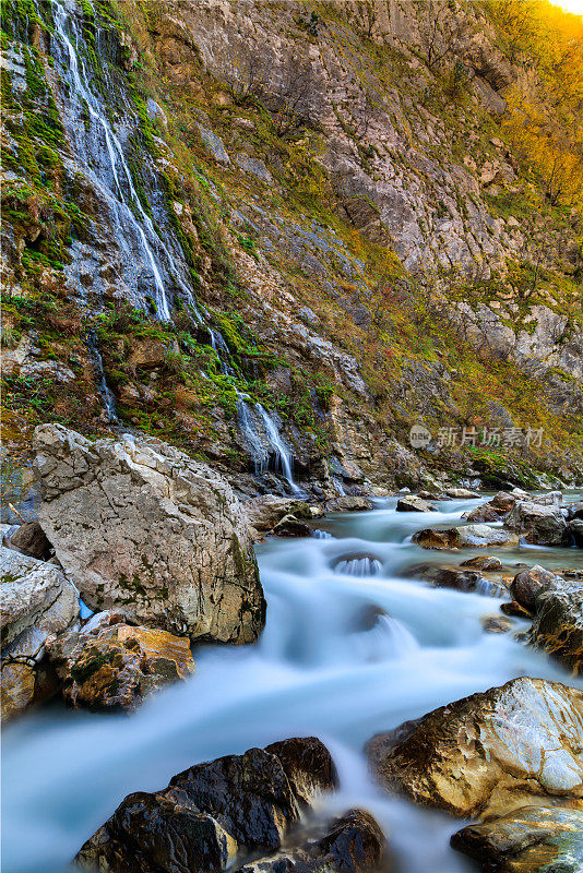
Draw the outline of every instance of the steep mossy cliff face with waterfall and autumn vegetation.
<instances>
[{"instance_id":1,"label":"steep mossy cliff face with waterfall and autumn vegetation","mask_svg":"<svg viewBox=\"0 0 583 873\"><path fill-rule=\"evenodd\" d=\"M106 430L105 398L230 471L287 447L331 492L583 475L580 216L509 147L527 64L486 8L8 5L19 431ZM498 432L436 442L463 427Z\"/></svg>"}]
</instances>

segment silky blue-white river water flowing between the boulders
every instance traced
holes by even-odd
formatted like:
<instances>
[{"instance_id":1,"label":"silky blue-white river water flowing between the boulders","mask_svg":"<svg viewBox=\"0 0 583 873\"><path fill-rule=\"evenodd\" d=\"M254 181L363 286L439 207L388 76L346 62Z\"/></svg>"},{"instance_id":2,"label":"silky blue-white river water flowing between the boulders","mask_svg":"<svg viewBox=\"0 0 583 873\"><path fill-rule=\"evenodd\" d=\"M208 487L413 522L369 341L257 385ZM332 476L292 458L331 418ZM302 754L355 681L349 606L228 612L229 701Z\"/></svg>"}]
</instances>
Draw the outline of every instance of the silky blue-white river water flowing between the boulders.
<instances>
[{"instance_id":1,"label":"silky blue-white river water flowing between the boulders","mask_svg":"<svg viewBox=\"0 0 583 873\"><path fill-rule=\"evenodd\" d=\"M463 823L389 798L371 781L361 750L378 731L513 677L583 685L514 638L525 623L516 620L510 633L484 631L480 620L498 613L499 599L398 577L419 561L471 555L427 552L411 535L455 524L479 502L448 501L423 514L396 513L396 499L388 499L372 512L322 519L318 538L266 540L258 557L267 623L257 645L199 649L192 679L130 717L55 707L9 726L4 873L63 873L129 792L162 788L197 762L312 734L328 744L341 776L323 812L369 809L400 873L469 870L449 848ZM582 565L576 549L487 553L511 565Z\"/></svg>"}]
</instances>

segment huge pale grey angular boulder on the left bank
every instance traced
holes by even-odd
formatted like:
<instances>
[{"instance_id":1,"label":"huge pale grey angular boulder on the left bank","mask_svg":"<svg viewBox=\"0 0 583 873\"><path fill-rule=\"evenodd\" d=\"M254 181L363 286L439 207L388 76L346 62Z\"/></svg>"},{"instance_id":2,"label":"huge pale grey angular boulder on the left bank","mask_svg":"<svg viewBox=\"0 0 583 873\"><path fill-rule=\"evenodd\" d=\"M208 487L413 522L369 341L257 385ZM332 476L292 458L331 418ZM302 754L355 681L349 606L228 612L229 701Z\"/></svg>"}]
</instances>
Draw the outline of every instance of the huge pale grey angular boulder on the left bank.
<instances>
[{"instance_id":1,"label":"huge pale grey angular boulder on the left bank","mask_svg":"<svg viewBox=\"0 0 583 873\"><path fill-rule=\"evenodd\" d=\"M251 643L265 602L230 486L159 440L35 431L38 518L93 610L191 639Z\"/></svg>"}]
</instances>

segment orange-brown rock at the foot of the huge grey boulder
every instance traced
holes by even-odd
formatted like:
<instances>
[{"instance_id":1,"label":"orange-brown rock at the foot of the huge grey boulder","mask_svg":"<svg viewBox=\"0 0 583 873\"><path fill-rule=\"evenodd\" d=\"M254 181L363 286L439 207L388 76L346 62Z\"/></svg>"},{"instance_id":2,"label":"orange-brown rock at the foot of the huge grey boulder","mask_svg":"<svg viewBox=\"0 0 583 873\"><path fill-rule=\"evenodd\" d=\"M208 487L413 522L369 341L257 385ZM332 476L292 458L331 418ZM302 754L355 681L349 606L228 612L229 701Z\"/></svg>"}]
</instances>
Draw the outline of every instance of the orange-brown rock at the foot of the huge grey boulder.
<instances>
[{"instance_id":1,"label":"orange-brown rock at the foot of the huge grey boulder","mask_svg":"<svg viewBox=\"0 0 583 873\"><path fill-rule=\"evenodd\" d=\"M188 637L121 622L120 613L98 613L81 631L48 641L72 706L133 711L147 694L194 671Z\"/></svg>"}]
</instances>

